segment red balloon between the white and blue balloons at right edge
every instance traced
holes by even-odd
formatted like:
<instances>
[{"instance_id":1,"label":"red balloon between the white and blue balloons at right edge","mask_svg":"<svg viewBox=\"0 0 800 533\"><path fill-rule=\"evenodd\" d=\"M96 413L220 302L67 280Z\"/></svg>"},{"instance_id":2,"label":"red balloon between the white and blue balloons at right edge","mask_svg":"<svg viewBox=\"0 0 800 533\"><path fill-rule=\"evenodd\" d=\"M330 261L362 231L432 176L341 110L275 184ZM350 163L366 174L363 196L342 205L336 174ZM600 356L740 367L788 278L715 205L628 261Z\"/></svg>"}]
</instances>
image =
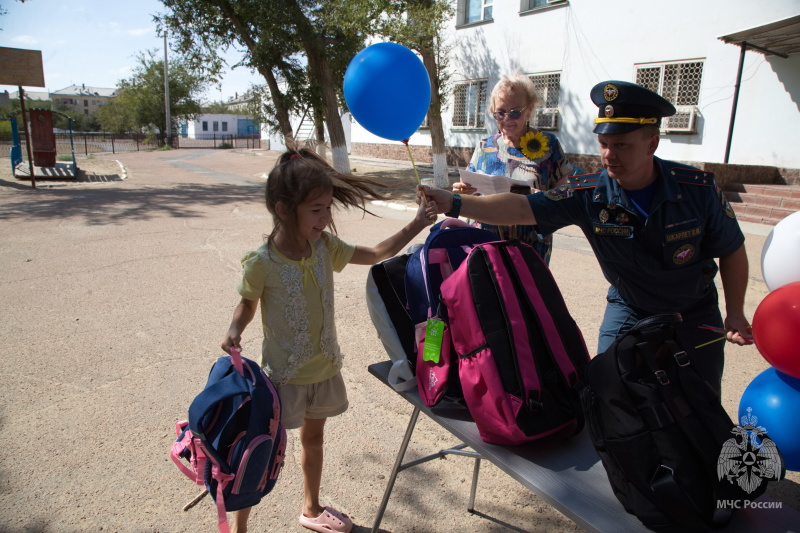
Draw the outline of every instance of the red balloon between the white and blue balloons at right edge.
<instances>
[{"instance_id":1,"label":"red balloon between the white and blue balloons at right edge","mask_svg":"<svg viewBox=\"0 0 800 533\"><path fill-rule=\"evenodd\" d=\"M800 378L800 281L767 294L753 315L753 339L777 370Z\"/></svg>"}]
</instances>

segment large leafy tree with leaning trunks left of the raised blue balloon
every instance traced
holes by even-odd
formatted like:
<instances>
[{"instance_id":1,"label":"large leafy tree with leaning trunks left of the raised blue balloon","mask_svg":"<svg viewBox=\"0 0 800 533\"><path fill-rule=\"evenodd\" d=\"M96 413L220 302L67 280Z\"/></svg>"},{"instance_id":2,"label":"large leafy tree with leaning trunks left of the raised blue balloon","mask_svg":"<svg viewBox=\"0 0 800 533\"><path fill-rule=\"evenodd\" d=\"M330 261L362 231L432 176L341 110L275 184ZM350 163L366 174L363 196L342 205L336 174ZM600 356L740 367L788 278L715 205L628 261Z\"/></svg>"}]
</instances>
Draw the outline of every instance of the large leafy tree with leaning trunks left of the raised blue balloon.
<instances>
[{"instance_id":1,"label":"large leafy tree with leaning trunks left of the raised blue balloon","mask_svg":"<svg viewBox=\"0 0 800 533\"><path fill-rule=\"evenodd\" d=\"M170 29L177 49L209 65L214 75L221 68L219 51L242 51L245 66L264 77L264 101L274 112L283 136L294 137L290 113L311 109L315 122L328 128L333 165L349 171L344 128L339 114L344 76L342 57L352 58L363 36L341 31L328 22L332 2L310 0L162 0L170 10L156 16ZM353 51L352 54L349 52ZM348 58L348 61L349 61ZM216 61L216 63L214 63Z\"/></svg>"}]
</instances>

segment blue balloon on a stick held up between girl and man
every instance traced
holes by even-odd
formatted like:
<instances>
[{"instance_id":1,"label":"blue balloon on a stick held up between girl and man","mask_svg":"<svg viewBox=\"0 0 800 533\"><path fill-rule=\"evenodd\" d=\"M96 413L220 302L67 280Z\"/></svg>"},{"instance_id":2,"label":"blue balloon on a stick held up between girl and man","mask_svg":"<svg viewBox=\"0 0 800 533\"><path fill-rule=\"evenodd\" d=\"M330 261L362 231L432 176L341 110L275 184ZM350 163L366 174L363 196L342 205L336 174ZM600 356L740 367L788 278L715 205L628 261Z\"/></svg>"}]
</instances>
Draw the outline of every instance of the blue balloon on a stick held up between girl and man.
<instances>
[{"instance_id":1,"label":"blue balloon on a stick held up between girl and man","mask_svg":"<svg viewBox=\"0 0 800 533\"><path fill-rule=\"evenodd\" d=\"M404 141L425 119L431 82L414 52L397 43L378 43L350 61L344 74L344 99L367 131Z\"/></svg>"}]
</instances>

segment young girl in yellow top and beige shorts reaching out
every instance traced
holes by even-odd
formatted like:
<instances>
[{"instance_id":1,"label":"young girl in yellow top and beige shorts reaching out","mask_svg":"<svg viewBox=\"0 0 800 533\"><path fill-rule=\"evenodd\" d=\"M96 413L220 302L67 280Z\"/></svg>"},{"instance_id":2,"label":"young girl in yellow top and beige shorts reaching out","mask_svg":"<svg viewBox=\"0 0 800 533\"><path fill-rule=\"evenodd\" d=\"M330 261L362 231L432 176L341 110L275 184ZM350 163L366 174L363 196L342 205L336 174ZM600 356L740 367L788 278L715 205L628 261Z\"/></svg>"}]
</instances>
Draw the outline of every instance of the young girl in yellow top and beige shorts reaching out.
<instances>
[{"instance_id":1,"label":"young girl in yellow top and beige shorts reaching out","mask_svg":"<svg viewBox=\"0 0 800 533\"><path fill-rule=\"evenodd\" d=\"M436 217L436 205L422 201L414 220L377 246L340 240L333 203L364 209L366 196L382 198L373 189L376 185L380 183L337 172L309 148L281 155L267 179L272 233L242 259L244 273L237 288L242 299L222 341L228 353L231 346L239 347L260 301L261 366L278 389L286 428L300 428L300 524L323 533L353 527L346 514L319 501L325 421L348 406L334 324L333 272L348 263L371 265L394 256ZM250 509L236 511L233 531L245 532L249 515Z\"/></svg>"}]
</instances>

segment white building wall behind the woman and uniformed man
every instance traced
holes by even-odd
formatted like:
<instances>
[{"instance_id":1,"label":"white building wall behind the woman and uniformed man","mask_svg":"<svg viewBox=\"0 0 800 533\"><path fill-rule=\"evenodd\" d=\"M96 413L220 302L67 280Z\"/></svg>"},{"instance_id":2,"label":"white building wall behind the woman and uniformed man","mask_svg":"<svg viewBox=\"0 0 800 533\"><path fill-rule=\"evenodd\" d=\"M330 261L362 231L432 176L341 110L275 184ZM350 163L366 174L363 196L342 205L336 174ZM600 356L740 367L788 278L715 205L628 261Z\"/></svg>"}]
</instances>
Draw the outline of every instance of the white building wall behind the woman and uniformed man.
<instances>
[{"instance_id":1,"label":"white building wall behind the woman and uniformed man","mask_svg":"<svg viewBox=\"0 0 800 533\"><path fill-rule=\"evenodd\" d=\"M571 0L528 15L516 0L494 3L494 22L447 30L454 45L452 81L500 75L561 72L561 126L554 133L570 153L597 154L591 133L597 107L589 99L601 81L634 80L634 65L704 60L697 133L662 138L658 155L682 161L722 162L728 136L740 48L718 37L800 14L797 0ZM452 98L448 103L452 106ZM448 146L475 146L496 131L453 130L444 113ZM352 142L391 143L353 124ZM410 144L430 145L420 130ZM800 55L783 59L748 51L737 107L730 163L800 168Z\"/></svg>"}]
</instances>

